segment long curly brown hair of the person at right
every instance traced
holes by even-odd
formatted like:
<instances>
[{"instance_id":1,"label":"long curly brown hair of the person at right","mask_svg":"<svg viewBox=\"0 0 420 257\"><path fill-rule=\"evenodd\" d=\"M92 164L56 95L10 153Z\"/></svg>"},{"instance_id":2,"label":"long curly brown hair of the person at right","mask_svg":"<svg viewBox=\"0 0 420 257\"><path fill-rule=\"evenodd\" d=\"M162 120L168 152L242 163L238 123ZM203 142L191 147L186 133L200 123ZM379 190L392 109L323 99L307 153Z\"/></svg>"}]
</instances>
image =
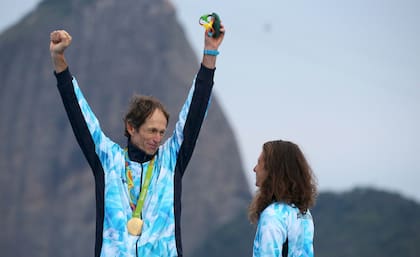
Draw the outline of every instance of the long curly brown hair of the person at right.
<instances>
[{"instance_id":1,"label":"long curly brown hair of the person at right","mask_svg":"<svg viewBox=\"0 0 420 257\"><path fill-rule=\"evenodd\" d=\"M257 223L261 212L273 202L294 205L302 213L315 204L315 177L296 144L282 140L266 142L262 160L267 174L249 207L252 223Z\"/></svg>"}]
</instances>

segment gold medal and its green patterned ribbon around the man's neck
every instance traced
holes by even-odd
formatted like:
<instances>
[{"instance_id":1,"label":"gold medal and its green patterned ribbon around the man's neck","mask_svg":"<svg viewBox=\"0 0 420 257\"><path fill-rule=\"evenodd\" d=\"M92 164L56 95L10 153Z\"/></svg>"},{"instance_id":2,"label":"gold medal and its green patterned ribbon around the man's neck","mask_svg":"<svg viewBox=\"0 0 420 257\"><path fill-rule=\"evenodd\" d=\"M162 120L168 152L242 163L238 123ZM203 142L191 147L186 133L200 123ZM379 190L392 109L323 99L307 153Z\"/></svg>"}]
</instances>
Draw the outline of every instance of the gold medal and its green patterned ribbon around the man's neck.
<instances>
[{"instance_id":1,"label":"gold medal and its green patterned ribbon around the man's neck","mask_svg":"<svg viewBox=\"0 0 420 257\"><path fill-rule=\"evenodd\" d=\"M133 183L133 176L132 171L129 164L129 158L127 149L125 151L125 170L126 170L126 176L127 176L127 186L128 186L128 192L130 194L130 207L133 210L133 214L131 215L131 219L127 222L127 230L128 233L130 233L133 236L139 236L141 234L141 230L143 228L143 220L141 217L141 212L143 209L144 200L146 199L147 191L149 190L150 181L152 178L153 173L153 166L155 163L155 157L150 161L149 167L147 167L146 171L146 179L141 186L140 196L137 200L137 205L134 204L134 196L132 194L132 188L134 187Z\"/></svg>"}]
</instances>

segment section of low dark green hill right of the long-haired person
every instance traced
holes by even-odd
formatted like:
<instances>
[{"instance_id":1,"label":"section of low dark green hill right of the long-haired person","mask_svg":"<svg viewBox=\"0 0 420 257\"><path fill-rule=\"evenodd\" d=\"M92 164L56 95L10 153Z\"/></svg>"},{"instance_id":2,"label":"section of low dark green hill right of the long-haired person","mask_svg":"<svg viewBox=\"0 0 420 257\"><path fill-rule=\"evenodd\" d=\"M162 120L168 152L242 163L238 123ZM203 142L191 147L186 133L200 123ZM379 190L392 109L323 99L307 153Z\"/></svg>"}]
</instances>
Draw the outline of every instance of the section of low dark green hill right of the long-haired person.
<instances>
[{"instance_id":1,"label":"section of low dark green hill right of the long-haired person","mask_svg":"<svg viewBox=\"0 0 420 257\"><path fill-rule=\"evenodd\" d=\"M324 193L313 215L317 256L420 256L420 204L399 194L369 188Z\"/></svg>"}]
</instances>

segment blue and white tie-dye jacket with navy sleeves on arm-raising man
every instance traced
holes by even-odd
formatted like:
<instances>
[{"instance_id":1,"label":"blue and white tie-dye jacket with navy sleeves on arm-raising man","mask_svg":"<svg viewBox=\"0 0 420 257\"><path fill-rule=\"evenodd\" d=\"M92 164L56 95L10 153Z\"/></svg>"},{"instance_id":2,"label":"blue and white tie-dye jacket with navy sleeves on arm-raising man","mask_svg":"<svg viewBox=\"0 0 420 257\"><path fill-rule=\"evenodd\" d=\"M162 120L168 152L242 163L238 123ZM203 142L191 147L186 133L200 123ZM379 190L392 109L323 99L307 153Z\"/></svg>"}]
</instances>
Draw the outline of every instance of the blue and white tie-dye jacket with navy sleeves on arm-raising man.
<instances>
[{"instance_id":1,"label":"blue and white tie-dye jacket with navy sleeves on arm-raising man","mask_svg":"<svg viewBox=\"0 0 420 257\"><path fill-rule=\"evenodd\" d=\"M55 74L76 139L92 168L96 193L95 256L182 256L181 179L191 158L213 87L214 69L201 65L173 134L159 147L143 206L142 234L127 232L131 218L124 147L110 140L69 69ZM153 156L128 143L136 192ZM143 174L143 177L145 174ZM138 197L135 196L136 198Z\"/></svg>"}]
</instances>

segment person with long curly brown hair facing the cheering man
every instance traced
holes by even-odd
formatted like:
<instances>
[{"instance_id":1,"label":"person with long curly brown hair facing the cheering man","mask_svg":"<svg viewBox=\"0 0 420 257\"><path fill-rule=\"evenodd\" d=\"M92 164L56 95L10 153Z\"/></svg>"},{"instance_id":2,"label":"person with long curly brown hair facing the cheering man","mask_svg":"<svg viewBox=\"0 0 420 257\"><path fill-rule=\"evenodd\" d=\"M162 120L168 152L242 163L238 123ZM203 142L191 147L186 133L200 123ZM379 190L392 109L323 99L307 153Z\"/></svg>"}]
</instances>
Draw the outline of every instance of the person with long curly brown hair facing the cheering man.
<instances>
[{"instance_id":1,"label":"person with long curly brown hair facing the cheering man","mask_svg":"<svg viewBox=\"0 0 420 257\"><path fill-rule=\"evenodd\" d=\"M264 143L254 168L259 188L249 208L258 223L254 257L313 256L316 183L299 147L288 141Z\"/></svg>"}]
</instances>

